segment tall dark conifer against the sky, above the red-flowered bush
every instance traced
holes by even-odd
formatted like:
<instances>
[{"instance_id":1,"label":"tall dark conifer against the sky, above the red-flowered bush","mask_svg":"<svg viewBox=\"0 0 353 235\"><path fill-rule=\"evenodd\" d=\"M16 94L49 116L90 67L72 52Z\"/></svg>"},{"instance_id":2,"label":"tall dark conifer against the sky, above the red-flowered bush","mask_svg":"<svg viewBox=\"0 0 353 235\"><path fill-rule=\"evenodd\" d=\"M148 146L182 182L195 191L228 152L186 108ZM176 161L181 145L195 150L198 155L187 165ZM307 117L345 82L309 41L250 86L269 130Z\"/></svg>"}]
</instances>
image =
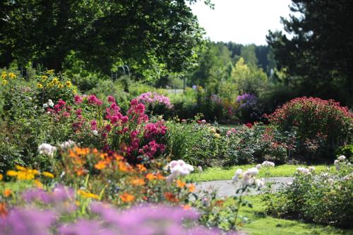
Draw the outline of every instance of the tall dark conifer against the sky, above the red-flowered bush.
<instances>
[{"instance_id":1,"label":"tall dark conifer against the sky, above the red-flowered bush","mask_svg":"<svg viewBox=\"0 0 353 235\"><path fill-rule=\"evenodd\" d=\"M353 104L353 1L292 0L282 32L269 32L277 66L287 68L299 95ZM300 15L300 16L299 16Z\"/></svg>"}]
</instances>

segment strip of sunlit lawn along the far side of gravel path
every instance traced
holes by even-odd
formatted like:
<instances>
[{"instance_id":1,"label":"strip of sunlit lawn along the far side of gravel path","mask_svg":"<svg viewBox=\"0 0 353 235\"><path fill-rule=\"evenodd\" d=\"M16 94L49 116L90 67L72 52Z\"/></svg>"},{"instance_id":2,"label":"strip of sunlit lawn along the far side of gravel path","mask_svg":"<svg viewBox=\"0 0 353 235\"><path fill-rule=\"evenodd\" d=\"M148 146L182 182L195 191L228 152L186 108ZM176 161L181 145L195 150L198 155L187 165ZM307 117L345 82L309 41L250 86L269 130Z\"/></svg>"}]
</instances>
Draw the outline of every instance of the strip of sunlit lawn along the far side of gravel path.
<instances>
[{"instance_id":1,"label":"strip of sunlit lawn along the far side of gravel path","mask_svg":"<svg viewBox=\"0 0 353 235\"><path fill-rule=\"evenodd\" d=\"M191 181L219 181L219 180L227 180L232 179L234 176L234 171L238 168L241 169L249 169L254 167L255 164L246 164L233 166L228 169L224 169L221 167L211 167L205 169L205 171L201 173L193 173L187 176L186 179ZM306 167L304 165L292 165L292 164L284 164L276 167L271 167L269 171L261 171L259 173L259 177L280 177L280 176L293 176L294 171L296 171L297 167ZM323 171L328 168L326 165L316 165L314 166L317 172ZM333 169L334 167L331 166Z\"/></svg>"}]
</instances>

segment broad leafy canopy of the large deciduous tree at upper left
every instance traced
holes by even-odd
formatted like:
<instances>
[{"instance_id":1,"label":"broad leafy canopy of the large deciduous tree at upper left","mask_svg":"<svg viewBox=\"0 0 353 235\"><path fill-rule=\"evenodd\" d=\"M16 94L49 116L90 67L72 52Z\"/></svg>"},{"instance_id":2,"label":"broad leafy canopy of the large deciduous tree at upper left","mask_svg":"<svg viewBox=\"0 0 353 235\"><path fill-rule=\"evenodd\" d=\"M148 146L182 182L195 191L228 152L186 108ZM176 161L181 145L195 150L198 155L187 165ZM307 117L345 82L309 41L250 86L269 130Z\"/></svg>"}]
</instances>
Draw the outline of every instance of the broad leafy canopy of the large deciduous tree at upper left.
<instances>
[{"instance_id":1,"label":"broad leafy canopy of the large deciduous tree at upper left","mask_svg":"<svg viewBox=\"0 0 353 235\"><path fill-rule=\"evenodd\" d=\"M185 71L203 40L188 6L196 1L1 1L0 66L16 59L60 71L69 57L105 73L113 64Z\"/></svg>"}]
</instances>

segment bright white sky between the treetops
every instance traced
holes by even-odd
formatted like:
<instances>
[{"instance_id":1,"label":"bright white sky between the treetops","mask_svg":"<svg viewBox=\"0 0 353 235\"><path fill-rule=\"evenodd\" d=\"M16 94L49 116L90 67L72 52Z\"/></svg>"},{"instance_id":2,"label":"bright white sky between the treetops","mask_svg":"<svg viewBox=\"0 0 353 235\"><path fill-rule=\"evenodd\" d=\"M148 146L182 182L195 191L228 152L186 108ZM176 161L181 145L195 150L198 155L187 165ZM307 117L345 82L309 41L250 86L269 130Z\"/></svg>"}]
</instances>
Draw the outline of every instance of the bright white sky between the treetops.
<instances>
[{"instance_id":1,"label":"bright white sky between the treetops","mask_svg":"<svg viewBox=\"0 0 353 235\"><path fill-rule=\"evenodd\" d=\"M290 0L212 0L215 9L203 1L193 4L193 13L215 42L267 44L268 30L282 30L280 16L288 18Z\"/></svg>"}]
</instances>

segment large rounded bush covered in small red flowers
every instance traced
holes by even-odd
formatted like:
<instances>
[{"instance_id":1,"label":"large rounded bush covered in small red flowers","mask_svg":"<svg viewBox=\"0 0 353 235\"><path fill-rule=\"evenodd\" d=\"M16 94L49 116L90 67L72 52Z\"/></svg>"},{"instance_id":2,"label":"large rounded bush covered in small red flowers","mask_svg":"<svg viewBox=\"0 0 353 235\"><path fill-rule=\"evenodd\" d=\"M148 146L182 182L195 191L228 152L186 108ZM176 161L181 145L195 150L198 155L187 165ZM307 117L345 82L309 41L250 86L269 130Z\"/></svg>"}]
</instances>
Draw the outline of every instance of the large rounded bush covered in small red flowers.
<instances>
[{"instance_id":1,"label":"large rounded bush covered in small red flowers","mask_svg":"<svg viewBox=\"0 0 353 235\"><path fill-rule=\"evenodd\" d=\"M297 131L300 155L334 155L337 147L352 140L353 114L333 100L301 97L267 116L281 131Z\"/></svg>"}]
</instances>

